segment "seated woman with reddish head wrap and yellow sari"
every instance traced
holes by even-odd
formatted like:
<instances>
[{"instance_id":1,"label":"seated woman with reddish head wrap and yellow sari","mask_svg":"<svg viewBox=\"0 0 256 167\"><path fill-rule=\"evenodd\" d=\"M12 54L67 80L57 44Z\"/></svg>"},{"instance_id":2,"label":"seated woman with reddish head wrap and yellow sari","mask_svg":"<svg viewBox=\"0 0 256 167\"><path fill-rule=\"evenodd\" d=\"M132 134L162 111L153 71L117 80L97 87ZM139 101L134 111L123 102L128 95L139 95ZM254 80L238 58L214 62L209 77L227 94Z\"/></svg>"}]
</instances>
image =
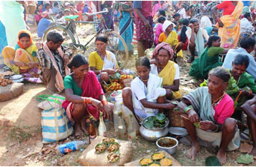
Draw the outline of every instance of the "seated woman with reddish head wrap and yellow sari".
<instances>
[{"instance_id":1,"label":"seated woman with reddish head wrap and yellow sari","mask_svg":"<svg viewBox=\"0 0 256 167\"><path fill-rule=\"evenodd\" d=\"M178 91L180 85L180 70L172 59L173 51L169 44L162 42L154 48L150 73L163 78L163 88L166 89L166 99L181 98Z\"/></svg>"}]
</instances>

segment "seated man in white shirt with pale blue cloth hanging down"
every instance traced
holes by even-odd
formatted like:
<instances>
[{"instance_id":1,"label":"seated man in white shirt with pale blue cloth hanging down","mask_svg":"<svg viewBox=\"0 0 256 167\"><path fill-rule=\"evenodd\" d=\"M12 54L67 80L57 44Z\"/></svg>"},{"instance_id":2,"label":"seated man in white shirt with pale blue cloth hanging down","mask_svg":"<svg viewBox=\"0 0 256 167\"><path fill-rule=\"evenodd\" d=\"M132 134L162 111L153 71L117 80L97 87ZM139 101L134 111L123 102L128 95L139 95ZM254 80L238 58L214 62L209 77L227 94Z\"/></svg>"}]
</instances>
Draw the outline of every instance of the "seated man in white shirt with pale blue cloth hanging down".
<instances>
[{"instance_id":1,"label":"seated man in white shirt with pale blue cloth hanging down","mask_svg":"<svg viewBox=\"0 0 256 167\"><path fill-rule=\"evenodd\" d=\"M198 56L205 49L205 42L209 39L207 31L199 27L198 19L191 19L189 29L186 31L187 38L189 39L188 50L190 50L190 59L187 62L193 62L195 59L195 52Z\"/></svg>"}]
</instances>

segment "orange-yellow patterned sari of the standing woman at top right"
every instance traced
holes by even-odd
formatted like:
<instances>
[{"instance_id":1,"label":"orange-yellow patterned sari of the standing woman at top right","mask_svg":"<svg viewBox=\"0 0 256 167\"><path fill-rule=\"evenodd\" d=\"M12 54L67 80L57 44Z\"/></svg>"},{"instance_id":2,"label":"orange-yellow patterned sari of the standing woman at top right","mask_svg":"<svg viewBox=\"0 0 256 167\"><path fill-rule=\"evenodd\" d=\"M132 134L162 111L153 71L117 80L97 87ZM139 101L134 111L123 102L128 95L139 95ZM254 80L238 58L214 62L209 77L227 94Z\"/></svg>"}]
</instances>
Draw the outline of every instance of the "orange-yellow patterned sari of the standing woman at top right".
<instances>
[{"instance_id":1,"label":"orange-yellow patterned sari of the standing woman at top right","mask_svg":"<svg viewBox=\"0 0 256 167\"><path fill-rule=\"evenodd\" d=\"M216 24L216 27L219 27L218 35L221 37L222 48L235 48L237 47L237 42L240 34L240 19L243 12L243 2L237 1L237 6L234 8L231 15L225 15L220 18L223 27L219 27L219 24Z\"/></svg>"}]
</instances>

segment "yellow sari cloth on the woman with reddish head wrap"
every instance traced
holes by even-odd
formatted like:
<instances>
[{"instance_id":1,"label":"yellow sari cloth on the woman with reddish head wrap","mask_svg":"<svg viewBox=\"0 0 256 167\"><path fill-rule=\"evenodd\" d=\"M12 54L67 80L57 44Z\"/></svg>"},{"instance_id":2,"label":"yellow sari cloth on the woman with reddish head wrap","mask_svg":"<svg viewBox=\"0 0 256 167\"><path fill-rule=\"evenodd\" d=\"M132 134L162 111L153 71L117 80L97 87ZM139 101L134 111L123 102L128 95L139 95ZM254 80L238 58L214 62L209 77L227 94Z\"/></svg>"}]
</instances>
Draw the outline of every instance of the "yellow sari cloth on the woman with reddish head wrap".
<instances>
[{"instance_id":1,"label":"yellow sari cloth on the woman with reddish head wrap","mask_svg":"<svg viewBox=\"0 0 256 167\"><path fill-rule=\"evenodd\" d=\"M175 62L169 61L163 70L158 74L158 76L163 78L162 85L173 85L176 73L174 65ZM172 93L174 99L181 98L181 93L179 91L172 91Z\"/></svg>"}]
</instances>

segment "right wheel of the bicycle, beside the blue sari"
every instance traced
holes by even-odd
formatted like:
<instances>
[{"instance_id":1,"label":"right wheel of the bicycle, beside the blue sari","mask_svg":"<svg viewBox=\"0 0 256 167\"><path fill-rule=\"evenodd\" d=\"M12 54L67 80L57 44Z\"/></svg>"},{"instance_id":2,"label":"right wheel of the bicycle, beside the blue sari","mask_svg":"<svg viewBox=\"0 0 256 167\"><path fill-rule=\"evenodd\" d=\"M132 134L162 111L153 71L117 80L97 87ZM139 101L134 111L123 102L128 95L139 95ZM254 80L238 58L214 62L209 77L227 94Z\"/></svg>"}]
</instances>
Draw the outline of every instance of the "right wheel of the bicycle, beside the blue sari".
<instances>
[{"instance_id":1,"label":"right wheel of the bicycle, beside the blue sari","mask_svg":"<svg viewBox=\"0 0 256 167\"><path fill-rule=\"evenodd\" d=\"M120 68L123 69L128 63L129 59L129 53L128 48L125 43L125 40L120 36L119 33L116 33L115 31L108 31L106 32L106 36L108 38L108 46L107 49L113 52L116 55L116 59L122 62L120 65ZM125 48L125 53L122 53L119 51L119 42L122 42L122 45Z\"/></svg>"}]
</instances>

